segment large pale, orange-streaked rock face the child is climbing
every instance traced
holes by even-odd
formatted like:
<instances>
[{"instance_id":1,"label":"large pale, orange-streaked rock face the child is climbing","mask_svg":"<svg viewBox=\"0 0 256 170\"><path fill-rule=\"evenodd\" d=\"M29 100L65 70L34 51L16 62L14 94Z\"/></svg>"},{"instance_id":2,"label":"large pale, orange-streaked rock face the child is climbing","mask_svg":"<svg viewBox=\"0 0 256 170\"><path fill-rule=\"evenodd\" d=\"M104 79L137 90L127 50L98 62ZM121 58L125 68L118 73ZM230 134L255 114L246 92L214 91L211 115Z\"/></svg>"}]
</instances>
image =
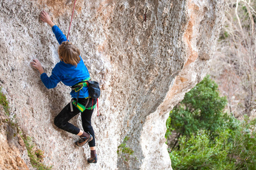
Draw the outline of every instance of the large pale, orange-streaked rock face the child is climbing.
<instances>
[{"instance_id":1,"label":"large pale, orange-streaked rock face the child is climbing","mask_svg":"<svg viewBox=\"0 0 256 170\"><path fill-rule=\"evenodd\" d=\"M38 58L51 75L59 62L58 44L39 13L48 11L67 34L73 1L2 0L0 85L20 128L45 152L44 163L53 169L171 169L164 138L168 112L207 74L223 5L222 0L77 1L69 40L102 88L100 116L94 111L92 118L98 163L90 165L89 147L76 147L77 137L53 124L71 100L70 88L59 83L48 90L30 66ZM80 119L71 123L81 128ZM125 137L133 154L117 154Z\"/></svg>"}]
</instances>

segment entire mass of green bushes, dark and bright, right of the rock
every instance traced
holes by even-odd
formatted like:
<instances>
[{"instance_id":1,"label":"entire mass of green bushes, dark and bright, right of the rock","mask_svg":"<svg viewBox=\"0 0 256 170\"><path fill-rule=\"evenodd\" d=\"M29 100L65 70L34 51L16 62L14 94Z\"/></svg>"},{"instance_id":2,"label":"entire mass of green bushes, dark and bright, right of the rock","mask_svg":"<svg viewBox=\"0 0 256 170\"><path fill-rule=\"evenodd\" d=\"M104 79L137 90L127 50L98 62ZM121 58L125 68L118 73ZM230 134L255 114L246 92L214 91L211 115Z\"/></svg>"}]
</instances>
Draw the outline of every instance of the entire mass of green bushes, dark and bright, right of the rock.
<instances>
[{"instance_id":1,"label":"entire mass of green bushes, dark and bright, right of the rock","mask_svg":"<svg viewBox=\"0 0 256 170\"><path fill-rule=\"evenodd\" d=\"M167 120L176 131L170 158L174 169L256 169L256 120L224 113L225 97L209 76L185 94Z\"/></svg>"}]
</instances>

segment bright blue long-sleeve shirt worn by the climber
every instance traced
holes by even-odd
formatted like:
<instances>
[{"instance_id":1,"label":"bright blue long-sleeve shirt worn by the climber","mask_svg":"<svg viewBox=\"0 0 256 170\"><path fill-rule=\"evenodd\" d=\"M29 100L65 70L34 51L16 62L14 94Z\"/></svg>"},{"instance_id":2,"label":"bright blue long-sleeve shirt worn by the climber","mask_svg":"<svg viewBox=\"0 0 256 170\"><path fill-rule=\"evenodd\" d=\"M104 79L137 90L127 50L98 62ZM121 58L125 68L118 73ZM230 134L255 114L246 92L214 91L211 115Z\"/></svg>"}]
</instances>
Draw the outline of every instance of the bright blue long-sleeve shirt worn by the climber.
<instances>
[{"instance_id":1,"label":"bright blue long-sleeve shirt worn by the climber","mask_svg":"<svg viewBox=\"0 0 256 170\"><path fill-rule=\"evenodd\" d=\"M66 36L63 34L59 27L54 25L52 27L52 31L55 34L55 37L59 44L61 44L63 41L67 41ZM56 87L57 83L59 83L60 81L63 82L66 86L73 86L76 83L79 83L82 80L89 77L90 75L88 69L84 65L84 61L82 61L82 58L80 62L77 64L77 67L60 61L52 69L51 76L48 77L46 73L43 73L40 76L42 82L44 83L44 86L46 86L47 88ZM71 91L70 94L72 97L77 97L77 92L75 91ZM82 90L80 90L79 93L79 98L85 98L88 96L88 87L82 88Z\"/></svg>"}]
</instances>

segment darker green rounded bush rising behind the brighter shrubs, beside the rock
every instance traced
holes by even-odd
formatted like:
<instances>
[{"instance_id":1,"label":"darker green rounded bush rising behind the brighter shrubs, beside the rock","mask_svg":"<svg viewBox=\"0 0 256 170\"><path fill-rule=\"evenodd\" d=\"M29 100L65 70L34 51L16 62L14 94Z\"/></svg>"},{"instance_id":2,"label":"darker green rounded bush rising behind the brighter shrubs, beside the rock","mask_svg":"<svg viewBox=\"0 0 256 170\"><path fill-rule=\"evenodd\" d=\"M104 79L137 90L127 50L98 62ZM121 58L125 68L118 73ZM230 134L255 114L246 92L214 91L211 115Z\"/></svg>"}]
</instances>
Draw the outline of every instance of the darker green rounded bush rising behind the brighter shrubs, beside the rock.
<instances>
[{"instance_id":1,"label":"darker green rounded bush rising behind the brighter shrubs, beside the rock","mask_svg":"<svg viewBox=\"0 0 256 170\"><path fill-rule=\"evenodd\" d=\"M205 76L185 94L183 101L172 109L170 119L167 120L167 129L175 129L181 135L190 135L200 129L214 133L229 119L222 112L225 105L226 99L219 96L217 84L209 76Z\"/></svg>"}]
</instances>

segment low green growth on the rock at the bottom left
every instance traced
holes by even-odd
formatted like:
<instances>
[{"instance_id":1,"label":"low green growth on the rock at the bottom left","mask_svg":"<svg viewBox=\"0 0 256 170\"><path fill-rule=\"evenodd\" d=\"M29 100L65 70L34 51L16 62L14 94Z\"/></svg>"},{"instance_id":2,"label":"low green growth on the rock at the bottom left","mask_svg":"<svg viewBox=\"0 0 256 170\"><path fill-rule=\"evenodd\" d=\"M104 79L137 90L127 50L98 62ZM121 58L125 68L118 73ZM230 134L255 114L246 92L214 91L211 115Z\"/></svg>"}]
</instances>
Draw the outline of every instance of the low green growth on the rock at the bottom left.
<instances>
[{"instance_id":1,"label":"low green growth on the rock at the bottom left","mask_svg":"<svg viewBox=\"0 0 256 170\"><path fill-rule=\"evenodd\" d=\"M30 163L32 164L32 167L38 169L38 170L48 170L52 169L52 166L44 165L43 158L44 151L42 150L35 150L35 145L32 143L32 139L30 137L23 137L22 139L26 145L28 157L30 158Z\"/></svg>"}]
</instances>

